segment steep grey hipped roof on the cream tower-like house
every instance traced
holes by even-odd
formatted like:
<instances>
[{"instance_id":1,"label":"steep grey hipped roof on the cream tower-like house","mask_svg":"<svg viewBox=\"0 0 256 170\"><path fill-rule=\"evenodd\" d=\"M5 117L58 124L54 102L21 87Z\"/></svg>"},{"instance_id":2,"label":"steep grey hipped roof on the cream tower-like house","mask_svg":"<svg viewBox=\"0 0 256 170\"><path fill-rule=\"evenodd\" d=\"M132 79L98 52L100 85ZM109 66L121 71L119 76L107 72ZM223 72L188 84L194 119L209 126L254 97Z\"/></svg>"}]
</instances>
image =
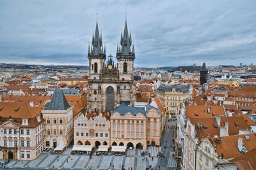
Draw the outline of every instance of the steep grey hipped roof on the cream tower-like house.
<instances>
[{"instance_id":1,"label":"steep grey hipped roof on the cream tower-like house","mask_svg":"<svg viewBox=\"0 0 256 170\"><path fill-rule=\"evenodd\" d=\"M67 110L69 107L62 90L56 89L50 103L47 103L46 110Z\"/></svg>"}]
</instances>

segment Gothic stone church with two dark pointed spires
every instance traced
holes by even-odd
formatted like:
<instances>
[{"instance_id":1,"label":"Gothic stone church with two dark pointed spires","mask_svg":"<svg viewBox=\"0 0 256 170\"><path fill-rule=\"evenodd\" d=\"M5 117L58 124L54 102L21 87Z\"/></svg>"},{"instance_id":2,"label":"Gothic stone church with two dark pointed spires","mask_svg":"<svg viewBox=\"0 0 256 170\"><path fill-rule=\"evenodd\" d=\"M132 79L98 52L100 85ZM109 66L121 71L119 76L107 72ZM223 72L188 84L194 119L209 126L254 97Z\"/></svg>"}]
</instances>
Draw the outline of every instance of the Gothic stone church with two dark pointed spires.
<instances>
[{"instance_id":1,"label":"Gothic stone church with two dark pointed spires","mask_svg":"<svg viewBox=\"0 0 256 170\"><path fill-rule=\"evenodd\" d=\"M121 34L120 45L116 48L117 64L113 56L106 61L106 46L102 45L102 34L99 34L96 23L92 46L88 46L89 78L87 110L88 112L111 112L122 103L133 104L135 87L133 85L134 45L131 32L129 35L125 20L124 34Z\"/></svg>"}]
</instances>

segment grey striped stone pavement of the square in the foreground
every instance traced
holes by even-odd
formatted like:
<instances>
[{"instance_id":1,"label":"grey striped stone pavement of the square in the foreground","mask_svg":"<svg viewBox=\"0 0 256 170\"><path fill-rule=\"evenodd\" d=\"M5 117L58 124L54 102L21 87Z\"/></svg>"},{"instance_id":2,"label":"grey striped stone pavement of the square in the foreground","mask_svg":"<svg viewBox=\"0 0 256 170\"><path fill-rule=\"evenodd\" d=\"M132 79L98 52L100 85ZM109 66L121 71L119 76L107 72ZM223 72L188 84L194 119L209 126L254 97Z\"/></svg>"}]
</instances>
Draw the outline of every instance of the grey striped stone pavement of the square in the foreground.
<instances>
[{"instance_id":1,"label":"grey striped stone pavement of the square in the foreground","mask_svg":"<svg viewBox=\"0 0 256 170\"><path fill-rule=\"evenodd\" d=\"M131 169L132 167L134 170L142 170L146 169L148 165L151 165L152 167L157 165L158 158L156 156L159 152L159 148L154 146L148 147L147 151L148 153L151 153L151 157L147 157L147 161L145 160L145 157L141 157L141 152L143 152L143 150L127 150L127 157L125 157L125 155L100 155L93 156L92 159L89 159L89 155L71 155L70 151L70 149L67 149L60 154L59 161L57 159L58 154L41 153L36 160L12 161L8 164L8 167L29 167L31 169L51 169L52 167L55 169L62 169L63 167L65 169L89 169L92 167L92 169L103 170L108 168L111 169L112 165L114 165L114 169L122 169L122 166L124 166L125 169ZM152 156L154 157L154 160L152 160ZM172 166L173 163L174 162L171 160L170 166Z\"/></svg>"}]
</instances>

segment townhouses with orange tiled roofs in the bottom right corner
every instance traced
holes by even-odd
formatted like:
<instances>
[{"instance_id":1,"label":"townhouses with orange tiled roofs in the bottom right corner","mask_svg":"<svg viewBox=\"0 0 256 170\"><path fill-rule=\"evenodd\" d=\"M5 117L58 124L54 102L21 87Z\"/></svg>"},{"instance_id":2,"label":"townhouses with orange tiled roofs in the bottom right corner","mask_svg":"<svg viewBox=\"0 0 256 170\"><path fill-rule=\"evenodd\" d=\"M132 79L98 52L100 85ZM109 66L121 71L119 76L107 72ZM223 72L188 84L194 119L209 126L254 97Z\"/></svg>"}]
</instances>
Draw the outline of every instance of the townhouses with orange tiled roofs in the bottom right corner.
<instances>
[{"instance_id":1,"label":"townhouses with orange tiled roofs in the bottom right corner","mask_svg":"<svg viewBox=\"0 0 256 170\"><path fill-rule=\"evenodd\" d=\"M256 148L252 124L244 115L228 117L224 106L181 104L176 139L179 169L226 169L223 163Z\"/></svg>"}]
</instances>

